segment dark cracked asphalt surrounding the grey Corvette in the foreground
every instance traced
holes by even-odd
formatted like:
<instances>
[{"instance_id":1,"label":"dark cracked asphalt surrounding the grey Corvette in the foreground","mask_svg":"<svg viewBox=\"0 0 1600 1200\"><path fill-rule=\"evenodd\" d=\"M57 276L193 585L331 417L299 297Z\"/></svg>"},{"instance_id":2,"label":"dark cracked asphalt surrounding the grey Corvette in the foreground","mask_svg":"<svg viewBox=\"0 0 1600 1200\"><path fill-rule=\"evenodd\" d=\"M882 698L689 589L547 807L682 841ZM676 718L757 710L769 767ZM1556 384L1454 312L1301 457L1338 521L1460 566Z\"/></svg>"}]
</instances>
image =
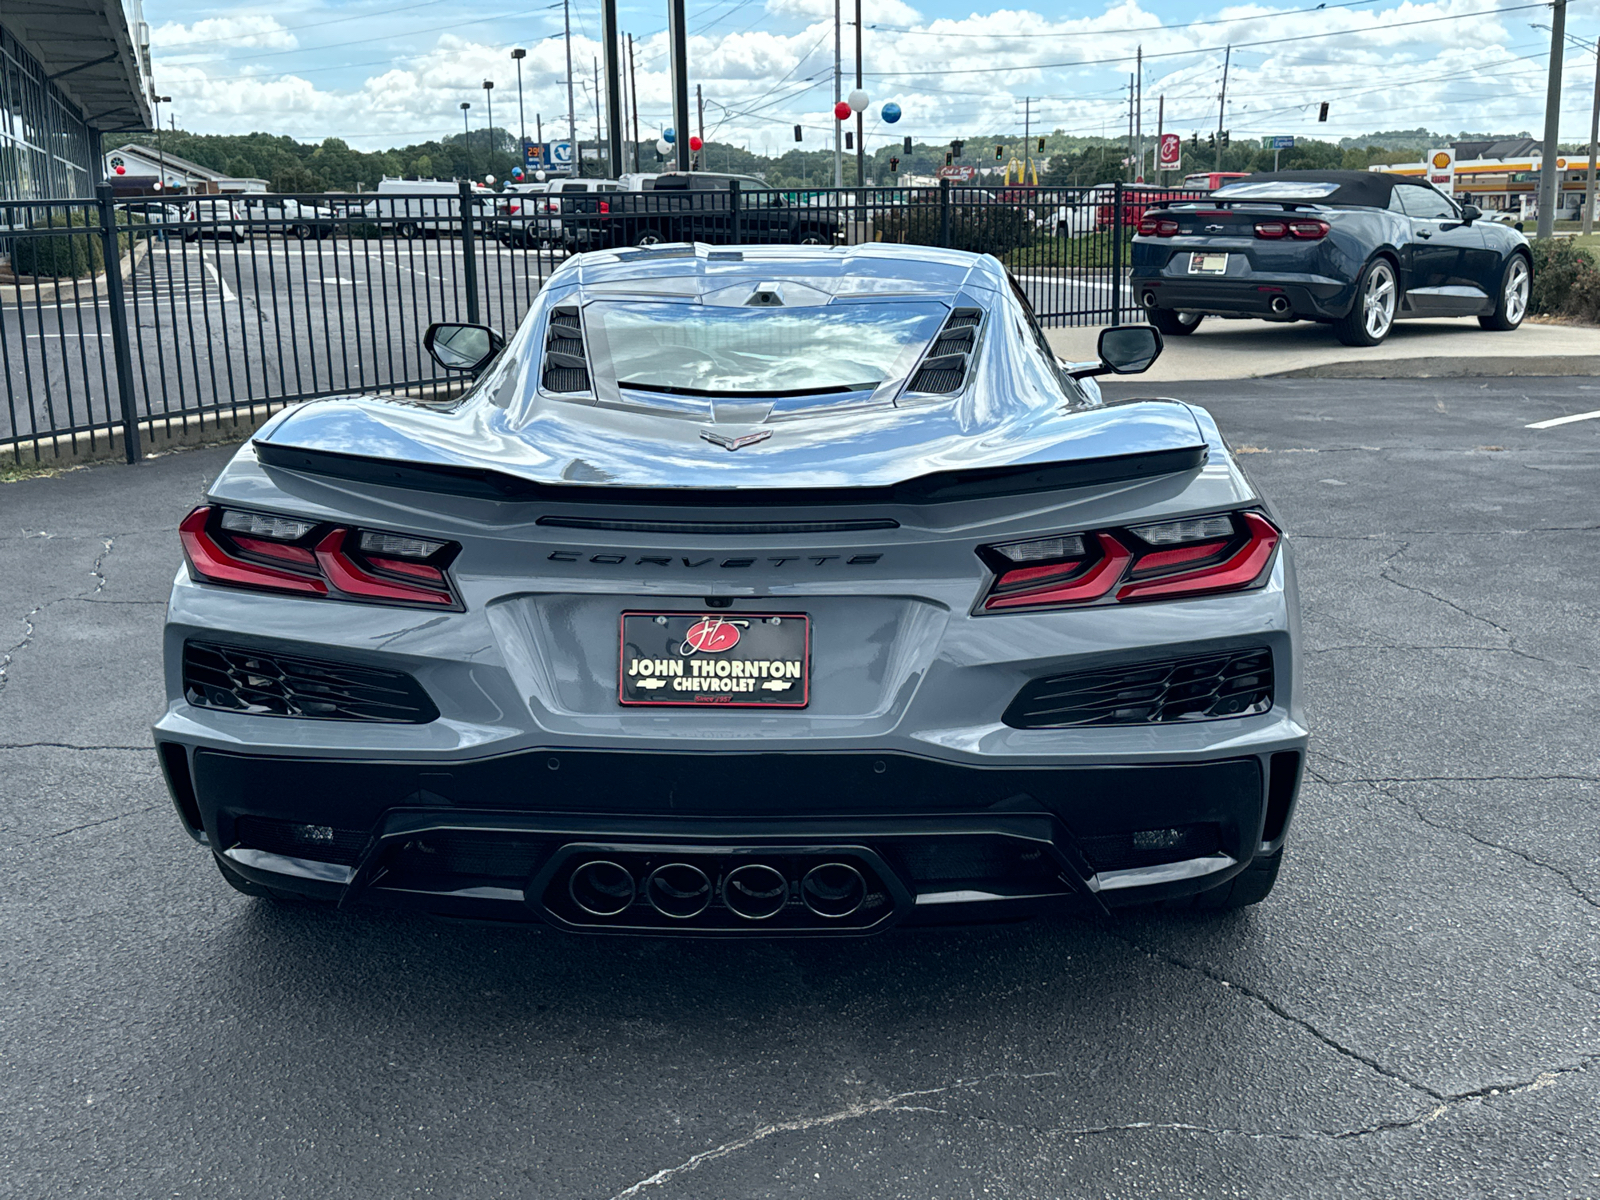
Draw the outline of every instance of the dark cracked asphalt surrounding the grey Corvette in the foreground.
<instances>
[{"instance_id":1,"label":"dark cracked asphalt surrounding the grey Corvette in the foreground","mask_svg":"<svg viewBox=\"0 0 1600 1200\"><path fill-rule=\"evenodd\" d=\"M1208 403L1314 742L1221 918L584 939L226 888L150 752L226 448L0 486L0 1197L1600 1197L1600 379Z\"/></svg>"}]
</instances>

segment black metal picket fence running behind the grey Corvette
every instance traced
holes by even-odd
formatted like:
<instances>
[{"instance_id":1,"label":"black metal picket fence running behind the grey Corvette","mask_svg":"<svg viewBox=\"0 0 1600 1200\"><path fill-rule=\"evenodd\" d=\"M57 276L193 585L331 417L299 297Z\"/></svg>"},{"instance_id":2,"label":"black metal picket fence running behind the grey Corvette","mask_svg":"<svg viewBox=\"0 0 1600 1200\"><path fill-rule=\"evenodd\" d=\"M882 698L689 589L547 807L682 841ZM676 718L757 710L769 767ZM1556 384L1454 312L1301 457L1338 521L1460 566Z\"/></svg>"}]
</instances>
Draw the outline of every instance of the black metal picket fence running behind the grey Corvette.
<instances>
[{"instance_id":1,"label":"black metal picket fence running behind the grey Corvette","mask_svg":"<svg viewBox=\"0 0 1600 1200\"><path fill-rule=\"evenodd\" d=\"M702 187L704 184L704 187ZM1176 190L864 187L232 195L0 203L0 456L136 461L174 429L458 386L437 320L509 333L568 253L699 240L990 253L1045 325L1133 314L1128 242ZM3 458L0 458L3 461Z\"/></svg>"}]
</instances>

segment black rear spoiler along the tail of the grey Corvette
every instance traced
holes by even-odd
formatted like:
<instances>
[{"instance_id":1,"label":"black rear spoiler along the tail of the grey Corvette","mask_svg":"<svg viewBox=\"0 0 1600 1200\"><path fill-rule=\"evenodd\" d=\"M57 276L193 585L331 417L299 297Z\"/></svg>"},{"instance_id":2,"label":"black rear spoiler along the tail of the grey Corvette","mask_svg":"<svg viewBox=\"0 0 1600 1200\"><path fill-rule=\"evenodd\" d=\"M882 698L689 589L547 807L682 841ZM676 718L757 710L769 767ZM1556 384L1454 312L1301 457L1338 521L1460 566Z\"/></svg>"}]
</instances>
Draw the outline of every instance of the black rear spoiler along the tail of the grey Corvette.
<instances>
[{"instance_id":1,"label":"black rear spoiler along the tail of the grey Corvette","mask_svg":"<svg viewBox=\"0 0 1600 1200\"><path fill-rule=\"evenodd\" d=\"M539 501L546 504L674 504L694 509L747 507L750 504L805 507L816 504L950 504L954 501L1026 496L1102 483L1130 483L1206 464L1206 446L1178 446L1141 454L1074 459L1070 462L1026 462L1011 467L941 470L885 486L867 488L643 488L597 483L539 483L490 467L461 467L442 462L395 462L394 459L342 454L331 450L304 450L254 442L256 459L269 467L310 475L410 488L450 496L493 501Z\"/></svg>"}]
</instances>

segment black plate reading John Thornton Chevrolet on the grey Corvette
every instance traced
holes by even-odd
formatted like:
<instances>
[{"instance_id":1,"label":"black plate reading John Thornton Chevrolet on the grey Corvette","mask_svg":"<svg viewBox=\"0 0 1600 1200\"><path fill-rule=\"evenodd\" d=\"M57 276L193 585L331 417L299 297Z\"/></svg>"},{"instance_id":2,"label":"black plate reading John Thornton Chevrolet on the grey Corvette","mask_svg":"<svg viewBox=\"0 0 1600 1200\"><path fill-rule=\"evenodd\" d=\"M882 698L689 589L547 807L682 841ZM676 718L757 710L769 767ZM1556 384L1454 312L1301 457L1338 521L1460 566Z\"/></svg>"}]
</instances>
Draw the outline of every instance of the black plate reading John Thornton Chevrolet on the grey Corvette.
<instances>
[{"instance_id":1,"label":"black plate reading John Thornton Chevrolet on the grey Corvette","mask_svg":"<svg viewBox=\"0 0 1600 1200\"><path fill-rule=\"evenodd\" d=\"M621 704L803 709L810 691L803 613L622 613Z\"/></svg>"}]
</instances>

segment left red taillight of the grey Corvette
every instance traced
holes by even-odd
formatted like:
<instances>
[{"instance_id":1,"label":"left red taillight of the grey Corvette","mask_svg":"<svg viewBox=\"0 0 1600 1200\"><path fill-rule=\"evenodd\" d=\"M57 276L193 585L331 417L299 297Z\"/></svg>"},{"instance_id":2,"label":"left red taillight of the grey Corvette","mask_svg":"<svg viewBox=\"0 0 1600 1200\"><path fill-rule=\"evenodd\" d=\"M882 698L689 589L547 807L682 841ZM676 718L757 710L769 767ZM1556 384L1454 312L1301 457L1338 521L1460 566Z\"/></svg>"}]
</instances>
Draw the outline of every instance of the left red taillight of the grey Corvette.
<instances>
[{"instance_id":1,"label":"left red taillight of the grey Corvette","mask_svg":"<svg viewBox=\"0 0 1600 1200\"><path fill-rule=\"evenodd\" d=\"M178 526L205 582L366 603L461 608L454 542L203 506Z\"/></svg>"}]
</instances>

